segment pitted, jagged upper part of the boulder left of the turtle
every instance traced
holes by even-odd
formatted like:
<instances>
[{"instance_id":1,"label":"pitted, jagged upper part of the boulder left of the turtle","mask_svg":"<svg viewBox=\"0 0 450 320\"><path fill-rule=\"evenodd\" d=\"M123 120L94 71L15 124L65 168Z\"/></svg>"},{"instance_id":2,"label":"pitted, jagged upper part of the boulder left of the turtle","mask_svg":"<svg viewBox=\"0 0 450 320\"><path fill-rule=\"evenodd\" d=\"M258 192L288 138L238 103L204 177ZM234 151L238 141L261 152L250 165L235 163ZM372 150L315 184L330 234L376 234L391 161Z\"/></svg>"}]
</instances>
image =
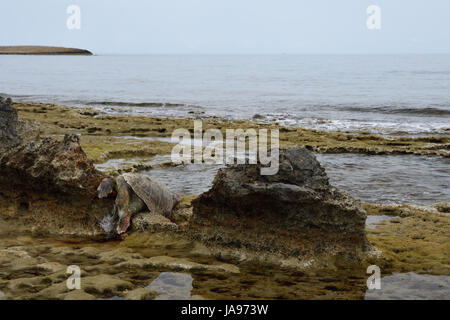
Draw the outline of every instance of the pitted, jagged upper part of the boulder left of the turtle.
<instances>
[{"instance_id":1,"label":"pitted, jagged upper part of the boulder left of the turtle","mask_svg":"<svg viewBox=\"0 0 450 320\"><path fill-rule=\"evenodd\" d=\"M81 149L78 136L46 138L15 147L0 159L0 178L9 189L95 197L105 176Z\"/></svg>"}]
</instances>

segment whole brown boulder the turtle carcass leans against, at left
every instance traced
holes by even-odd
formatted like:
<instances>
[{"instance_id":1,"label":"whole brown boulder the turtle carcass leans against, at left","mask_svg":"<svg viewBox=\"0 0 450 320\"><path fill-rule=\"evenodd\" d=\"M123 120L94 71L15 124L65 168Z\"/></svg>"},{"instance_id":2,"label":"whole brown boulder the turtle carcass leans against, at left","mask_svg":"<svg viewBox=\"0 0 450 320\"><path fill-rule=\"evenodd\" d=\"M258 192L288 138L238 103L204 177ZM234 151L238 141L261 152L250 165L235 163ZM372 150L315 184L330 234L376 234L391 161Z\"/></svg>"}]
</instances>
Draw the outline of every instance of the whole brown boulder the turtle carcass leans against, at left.
<instances>
[{"instance_id":1,"label":"whole brown boulder the turtle carcass leans against, at left","mask_svg":"<svg viewBox=\"0 0 450 320\"><path fill-rule=\"evenodd\" d=\"M78 136L23 143L0 155L0 216L57 234L101 233L112 199L98 199L105 176L83 152Z\"/></svg>"}]
</instances>

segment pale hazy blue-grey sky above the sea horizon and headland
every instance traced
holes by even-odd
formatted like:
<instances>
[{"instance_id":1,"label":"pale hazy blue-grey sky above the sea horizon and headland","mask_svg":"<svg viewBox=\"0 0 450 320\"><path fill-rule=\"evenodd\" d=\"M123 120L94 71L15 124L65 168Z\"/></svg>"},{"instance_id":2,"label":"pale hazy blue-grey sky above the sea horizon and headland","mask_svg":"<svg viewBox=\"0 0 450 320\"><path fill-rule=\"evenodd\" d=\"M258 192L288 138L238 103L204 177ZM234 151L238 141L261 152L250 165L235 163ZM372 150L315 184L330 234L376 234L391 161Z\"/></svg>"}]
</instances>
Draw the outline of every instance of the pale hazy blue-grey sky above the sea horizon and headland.
<instances>
[{"instance_id":1,"label":"pale hazy blue-grey sky above the sea horizon and headland","mask_svg":"<svg viewBox=\"0 0 450 320\"><path fill-rule=\"evenodd\" d=\"M449 0L2 0L0 12L0 45L96 54L450 53Z\"/></svg>"}]
</instances>

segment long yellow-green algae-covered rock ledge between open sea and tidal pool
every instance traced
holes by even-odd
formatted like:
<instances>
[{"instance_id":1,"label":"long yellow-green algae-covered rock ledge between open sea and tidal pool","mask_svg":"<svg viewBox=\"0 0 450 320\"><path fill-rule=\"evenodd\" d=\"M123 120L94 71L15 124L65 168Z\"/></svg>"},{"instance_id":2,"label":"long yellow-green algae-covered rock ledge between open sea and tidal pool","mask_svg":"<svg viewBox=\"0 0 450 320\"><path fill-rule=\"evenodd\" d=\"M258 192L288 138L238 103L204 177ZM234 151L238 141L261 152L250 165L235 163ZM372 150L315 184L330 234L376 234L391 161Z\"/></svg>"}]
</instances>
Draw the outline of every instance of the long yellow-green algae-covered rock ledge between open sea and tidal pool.
<instances>
[{"instance_id":1,"label":"long yellow-green algae-covered rock ledge between open sea and tidal pool","mask_svg":"<svg viewBox=\"0 0 450 320\"><path fill-rule=\"evenodd\" d=\"M170 137L178 128L193 130L194 118L110 116L92 108L44 103L16 102L24 120L38 122L43 136L77 133L88 156L96 163L113 158L135 158L170 154L173 144L127 137ZM254 128L279 129L280 147L304 146L319 153L416 154L450 157L450 137L381 137L262 124L253 121L225 121L204 118L203 130ZM95 130L94 130L95 129Z\"/></svg>"}]
</instances>

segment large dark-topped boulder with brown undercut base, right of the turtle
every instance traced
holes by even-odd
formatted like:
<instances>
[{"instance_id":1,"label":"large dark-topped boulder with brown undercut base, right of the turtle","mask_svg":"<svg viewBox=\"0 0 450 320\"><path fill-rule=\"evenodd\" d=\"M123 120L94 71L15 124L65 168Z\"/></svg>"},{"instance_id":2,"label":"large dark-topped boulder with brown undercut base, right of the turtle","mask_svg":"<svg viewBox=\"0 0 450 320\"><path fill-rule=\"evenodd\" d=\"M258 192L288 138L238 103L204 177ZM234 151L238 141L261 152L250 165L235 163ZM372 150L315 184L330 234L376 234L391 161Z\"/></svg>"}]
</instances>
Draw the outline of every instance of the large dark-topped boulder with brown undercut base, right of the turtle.
<instances>
[{"instance_id":1,"label":"large dark-topped boulder with brown undercut base, right of the turtle","mask_svg":"<svg viewBox=\"0 0 450 320\"><path fill-rule=\"evenodd\" d=\"M366 212L329 184L312 152L281 150L279 160L272 176L260 175L259 164L220 169L212 188L192 202L194 237L295 257L354 258L369 249Z\"/></svg>"}]
</instances>

